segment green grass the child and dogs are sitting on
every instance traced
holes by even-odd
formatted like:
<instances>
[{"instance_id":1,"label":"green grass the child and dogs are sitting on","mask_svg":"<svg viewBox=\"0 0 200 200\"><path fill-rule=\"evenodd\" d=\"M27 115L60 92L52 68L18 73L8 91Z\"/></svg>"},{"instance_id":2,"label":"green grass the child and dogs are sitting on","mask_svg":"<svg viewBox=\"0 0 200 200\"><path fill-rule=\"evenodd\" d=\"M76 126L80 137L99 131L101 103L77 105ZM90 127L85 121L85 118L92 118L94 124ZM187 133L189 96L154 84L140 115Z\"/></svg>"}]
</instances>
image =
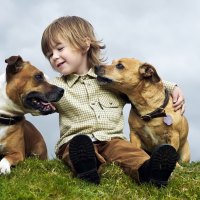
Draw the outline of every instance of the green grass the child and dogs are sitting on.
<instances>
[{"instance_id":1,"label":"green grass the child and dogs are sitting on","mask_svg":"<svg viewBox=\"0 0 200 200\"><path fill-rule=\"evenodd\" d=\"M27 159L0 176L1 200L95 200L95 199L200 199L200 162L175 169L169 185L158 189L137 185L116 165L106 166L96 186L77 178L59 160Z\"/></svg>"}]
</instances>

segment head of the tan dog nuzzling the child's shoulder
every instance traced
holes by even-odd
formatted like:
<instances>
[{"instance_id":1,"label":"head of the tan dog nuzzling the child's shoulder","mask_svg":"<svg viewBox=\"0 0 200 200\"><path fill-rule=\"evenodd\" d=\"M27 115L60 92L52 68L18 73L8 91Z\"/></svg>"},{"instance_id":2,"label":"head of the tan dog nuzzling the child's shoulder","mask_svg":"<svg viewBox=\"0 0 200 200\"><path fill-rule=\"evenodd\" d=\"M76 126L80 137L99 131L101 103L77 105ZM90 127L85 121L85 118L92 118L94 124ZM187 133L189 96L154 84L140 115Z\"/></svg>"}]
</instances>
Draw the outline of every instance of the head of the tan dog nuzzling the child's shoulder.
<instances>
[{"instance_id":1,"label":"head of the tan dog nuzzling the child's shoulder","mask_svg":"<svg viewBox=\"0 0 200 200\"><path fill-rule=\"evenodd\" d=\"M110 65L95 66L97 80L115 89L137 87L141 81L157 83L160 78L155 68L133 58L114 60Z\"/></svg>"}]
</instances>

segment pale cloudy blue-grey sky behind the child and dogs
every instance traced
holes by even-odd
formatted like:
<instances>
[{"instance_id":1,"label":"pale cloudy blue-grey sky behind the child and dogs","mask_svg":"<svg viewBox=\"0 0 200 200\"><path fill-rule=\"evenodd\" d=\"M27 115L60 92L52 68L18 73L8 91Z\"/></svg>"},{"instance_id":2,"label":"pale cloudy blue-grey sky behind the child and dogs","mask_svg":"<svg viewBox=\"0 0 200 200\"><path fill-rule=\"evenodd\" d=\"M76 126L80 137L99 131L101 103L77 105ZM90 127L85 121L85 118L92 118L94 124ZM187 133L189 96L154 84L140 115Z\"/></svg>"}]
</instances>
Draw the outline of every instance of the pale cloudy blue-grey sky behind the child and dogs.
<instances>
[{"instance_id":1,"label":"pale cloudy blue-grey sky behind the child and dogs","mask_svg":"<svg viewBox=\"0 0 200 200\"><path fill-rule=\"evenodd\" d=\"M192 161L200 160L200 1L198 0L0 0L0 72L4 60L21 55L50 78L57 76L41 52L41 35L54 19L78 15L90 21L106 44L108 62L135 57L156 67L162 79L176 82L186 99ZM124 109L128 137L127 117ZM59 138L58 114L27 118L42 132L49 151Z\"/></svg>"}]
</instances>

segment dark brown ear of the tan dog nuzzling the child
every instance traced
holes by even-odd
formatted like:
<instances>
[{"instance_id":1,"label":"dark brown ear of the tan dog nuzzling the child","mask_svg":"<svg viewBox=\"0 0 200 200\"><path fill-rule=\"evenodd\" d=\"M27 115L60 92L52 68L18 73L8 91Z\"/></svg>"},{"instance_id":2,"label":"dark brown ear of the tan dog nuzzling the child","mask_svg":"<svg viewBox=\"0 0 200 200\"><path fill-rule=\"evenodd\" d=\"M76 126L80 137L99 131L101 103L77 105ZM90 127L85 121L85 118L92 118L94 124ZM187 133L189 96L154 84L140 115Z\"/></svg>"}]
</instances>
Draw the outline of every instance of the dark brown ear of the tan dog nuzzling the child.
<instances>
[{"instance_id":1,"label":"dark brown ear of the tan dog nuzzling the child","mask_svg":"<svg viewBox=\"0 0 200 200\"><path fill-rule=\"evenodd\" d=\"M158 76L156 69L148 63L144 63L139 67L139 73L142 79L148 79L153 83L160 81L160 77Z\"/></svg>"}]
</instances>

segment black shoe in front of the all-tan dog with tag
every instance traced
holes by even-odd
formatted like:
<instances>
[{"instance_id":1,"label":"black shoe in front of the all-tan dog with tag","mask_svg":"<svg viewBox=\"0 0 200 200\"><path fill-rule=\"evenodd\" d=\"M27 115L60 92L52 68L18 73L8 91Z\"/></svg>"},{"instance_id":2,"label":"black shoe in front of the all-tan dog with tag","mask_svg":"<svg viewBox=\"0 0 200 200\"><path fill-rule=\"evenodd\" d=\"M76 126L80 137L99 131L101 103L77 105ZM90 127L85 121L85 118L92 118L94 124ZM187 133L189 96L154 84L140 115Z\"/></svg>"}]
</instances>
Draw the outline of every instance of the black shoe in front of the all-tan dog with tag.
<instances>
[{"instance_id":1,"label":"black shoe in front of the all-tan dog with tag","mask_svg":"<svg viewBox=\"0 0 200 200\"><path fill-rule=\"evenodd\" d=\"M178 153L171 145L158 146L153 151L150 160L139 169L141 182L150 182L157 187L166 186L178 159Z\"/></svg>"}]
</instances>

